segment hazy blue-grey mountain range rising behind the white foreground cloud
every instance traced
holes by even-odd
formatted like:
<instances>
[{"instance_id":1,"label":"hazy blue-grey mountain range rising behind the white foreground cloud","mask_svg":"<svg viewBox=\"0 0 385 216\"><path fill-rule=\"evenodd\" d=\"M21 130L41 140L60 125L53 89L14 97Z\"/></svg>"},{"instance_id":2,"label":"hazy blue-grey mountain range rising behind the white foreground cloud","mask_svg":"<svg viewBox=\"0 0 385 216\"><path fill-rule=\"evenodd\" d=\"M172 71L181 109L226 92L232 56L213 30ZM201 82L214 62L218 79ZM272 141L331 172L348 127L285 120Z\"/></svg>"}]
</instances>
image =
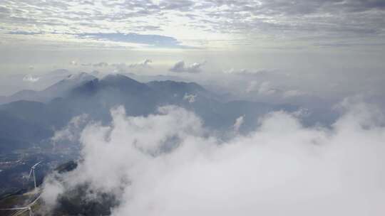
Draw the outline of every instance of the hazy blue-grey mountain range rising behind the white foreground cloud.
<instances>
[{"instance_id":1,"label":"hazy blue-grey mountain range rising behind the white foreground cloud","mask_svg":"<svg viewBox=\"0 0 385 216\"><path fill-rule=\"evenodd\" d=\"M55 130L80 114L88 114L90 119L106 124L111 120L110 109L118 105L123 105L132 116L154 113L163 105L178 105L195 112L205 126L216 131L232 129L240 116L246 117L241 130L249 131L257 125L257 118L267 112L298 109L292 105L220 102L214 93L194 82L142 83L118 74L102 79L86 73L68 75L41 92L21 91L12 97L31 101L0 105L0 151L49 139ZM11 144L14 148L6 147Z\"/></svg>"}]
</instances>

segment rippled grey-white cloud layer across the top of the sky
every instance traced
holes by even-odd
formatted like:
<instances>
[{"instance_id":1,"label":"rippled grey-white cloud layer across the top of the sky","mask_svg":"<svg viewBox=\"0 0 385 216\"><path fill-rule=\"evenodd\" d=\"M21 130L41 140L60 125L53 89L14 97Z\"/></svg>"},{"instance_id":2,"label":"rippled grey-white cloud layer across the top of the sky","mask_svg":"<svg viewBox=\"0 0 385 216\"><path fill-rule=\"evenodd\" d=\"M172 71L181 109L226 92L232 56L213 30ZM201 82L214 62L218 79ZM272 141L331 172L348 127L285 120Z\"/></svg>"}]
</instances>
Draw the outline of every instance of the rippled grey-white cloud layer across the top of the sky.
<instances>
[{"instance_id":1,"label":"rippled grey-white cloud layer across the top of the sky","mask_svg":"<svg viewBox=\"0 0 385 216\"><path fill-rule=\"evenodd\" d=\"M211 40L222 41L224 37L227 43L250 44L253 38L250 35L261 34L278 38L282 34L294 38L337 38L340 41L363 37L379 39L384 36L384 13L384 1L381 0L49 3L6 0L0 7L2 33L19 36L55 34L61 38L91 38L168 48L188 47L185 44L202 46L212 43ZM319 40L313 42L319 43ZM326 43L330 44L329 41ZM376 44L381 43L377 41Z\"/></svg>"}]
</instances>

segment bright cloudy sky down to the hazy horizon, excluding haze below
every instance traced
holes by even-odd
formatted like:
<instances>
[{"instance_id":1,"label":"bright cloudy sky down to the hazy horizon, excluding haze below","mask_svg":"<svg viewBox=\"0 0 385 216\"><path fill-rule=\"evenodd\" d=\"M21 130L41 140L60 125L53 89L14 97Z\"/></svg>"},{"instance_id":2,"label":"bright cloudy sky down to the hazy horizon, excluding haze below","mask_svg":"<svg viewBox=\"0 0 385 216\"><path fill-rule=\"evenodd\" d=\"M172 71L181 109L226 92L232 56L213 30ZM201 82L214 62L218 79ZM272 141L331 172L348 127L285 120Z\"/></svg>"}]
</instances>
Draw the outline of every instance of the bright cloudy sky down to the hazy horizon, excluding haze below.
<instances>
[{"instance_id":1,"label":"bright cloudy sky down to the hazy horizon, excluding haze below","mask_svg":"<svg viewBox=\"0 0 385 216\"><path fill-rule=\"evenodd\" d=\"M207 60L217 70L302 61L297 70L305 70L307 57L330 68L374 69L384 55L384 11L381 0L2 0L0 69L150 58L160 65Z\"/></svg>"}]
</instances>

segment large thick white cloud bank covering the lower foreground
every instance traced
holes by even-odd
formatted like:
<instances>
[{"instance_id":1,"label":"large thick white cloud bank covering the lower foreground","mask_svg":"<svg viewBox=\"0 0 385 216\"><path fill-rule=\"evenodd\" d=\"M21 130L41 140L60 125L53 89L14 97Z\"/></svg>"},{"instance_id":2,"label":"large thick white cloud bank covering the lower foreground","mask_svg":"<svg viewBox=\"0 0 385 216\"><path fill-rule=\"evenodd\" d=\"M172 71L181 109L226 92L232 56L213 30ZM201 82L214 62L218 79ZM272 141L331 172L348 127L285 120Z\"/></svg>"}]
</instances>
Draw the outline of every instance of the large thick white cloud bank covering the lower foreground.
<instances>
[{"instance_id":1,"label":"large thick white cloud bank covering the lower foreground","mask_svg":"<svg viewBox=\"0 0 385 216\"><path fill-rule=\"evenodd\" d=\"M43 200L88 183L120 200L112 215L383 215L385 122L344 107L330 129L272 112L230 141L178 107L113 109L111 125L86 126L78 168L46 182Z\"/></svg>"}]
</instances>

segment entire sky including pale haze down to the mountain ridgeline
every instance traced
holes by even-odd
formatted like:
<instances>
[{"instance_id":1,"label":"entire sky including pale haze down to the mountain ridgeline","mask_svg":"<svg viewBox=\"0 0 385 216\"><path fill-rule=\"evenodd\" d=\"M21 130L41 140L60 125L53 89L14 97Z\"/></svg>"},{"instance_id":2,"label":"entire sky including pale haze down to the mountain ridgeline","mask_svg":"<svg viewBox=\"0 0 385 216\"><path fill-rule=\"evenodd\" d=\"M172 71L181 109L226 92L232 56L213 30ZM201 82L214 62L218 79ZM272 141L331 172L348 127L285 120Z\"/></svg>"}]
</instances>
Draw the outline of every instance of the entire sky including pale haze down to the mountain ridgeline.
<instances>
[{"instance_id":1,"label":"entire sky including pale haze down to the mountain ridgeline","mask_svg":"<svg viewBox=\"0 0 385 216\"><path fill-rule=\"evenodd\" d=\"M382 0L2 0L0 76L28 77L0 95L40 90L58 69L172 75L257 99L381 95L384 16Z\"/></svg>"}]
</instances>

